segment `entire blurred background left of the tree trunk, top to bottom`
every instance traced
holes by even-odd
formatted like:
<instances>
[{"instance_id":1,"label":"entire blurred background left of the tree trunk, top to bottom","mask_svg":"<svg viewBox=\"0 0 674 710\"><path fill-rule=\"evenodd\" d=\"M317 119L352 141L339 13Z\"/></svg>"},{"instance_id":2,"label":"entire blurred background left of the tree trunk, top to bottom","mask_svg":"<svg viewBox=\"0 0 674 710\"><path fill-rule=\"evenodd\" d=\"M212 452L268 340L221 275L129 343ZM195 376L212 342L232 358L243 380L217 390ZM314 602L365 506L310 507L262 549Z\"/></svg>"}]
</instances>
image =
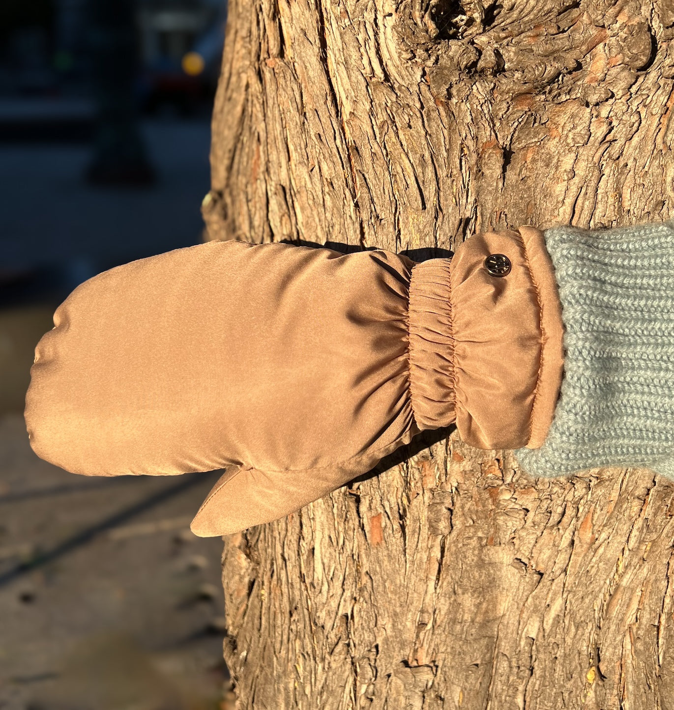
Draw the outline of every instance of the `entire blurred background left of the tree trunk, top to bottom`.
<instances>
[{"instance_id":1,"label":"entire blurred background left of the tree trunk, top to bottom","mask_svg":"<svg viewBox=\"0 0 674 710\"><path fill-rule=\"evenodd\" d=\"M224 0L0 0L0 709L229 708L218 472L33 454L34 349L77 285L202 241Z\"/></svg>"}]
</instances>

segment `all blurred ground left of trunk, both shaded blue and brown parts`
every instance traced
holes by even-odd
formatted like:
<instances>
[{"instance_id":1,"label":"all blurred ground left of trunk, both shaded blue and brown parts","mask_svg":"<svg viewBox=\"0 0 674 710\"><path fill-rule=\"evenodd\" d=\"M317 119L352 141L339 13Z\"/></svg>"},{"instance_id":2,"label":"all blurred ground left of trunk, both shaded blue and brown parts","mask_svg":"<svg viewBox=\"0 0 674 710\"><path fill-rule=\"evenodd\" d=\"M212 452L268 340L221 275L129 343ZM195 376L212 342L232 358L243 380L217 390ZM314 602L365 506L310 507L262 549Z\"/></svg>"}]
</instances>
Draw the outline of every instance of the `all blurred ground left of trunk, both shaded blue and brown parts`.
<instances>
[{"instance_id":1,"label":"all blurred ground left of trunk, both shaded blue and brown parts","mask_svg":"<svg viewBox=\"0 0 674 710\"><path fill-rule=\"evenodd\" d=\"M188 528L219 474L75 476L33 454L23 423L62 298L200 241L207 122L143 128L160 175L149 190L87 187L85 144L0 146L1 710L220 706L222 540Z\"/></svg>"}]
</instances>

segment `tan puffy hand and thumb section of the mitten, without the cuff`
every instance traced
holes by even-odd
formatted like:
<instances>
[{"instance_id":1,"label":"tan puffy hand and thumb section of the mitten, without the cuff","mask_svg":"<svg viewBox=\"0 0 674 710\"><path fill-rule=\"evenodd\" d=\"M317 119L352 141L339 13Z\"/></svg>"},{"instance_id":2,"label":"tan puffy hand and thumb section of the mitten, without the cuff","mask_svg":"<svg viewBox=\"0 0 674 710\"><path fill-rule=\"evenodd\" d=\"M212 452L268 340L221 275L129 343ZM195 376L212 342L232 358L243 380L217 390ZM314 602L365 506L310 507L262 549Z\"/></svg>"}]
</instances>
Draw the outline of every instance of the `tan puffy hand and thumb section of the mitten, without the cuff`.
<instances>
[{"instance_id":1,"label":"tan puffy hand and thumb section of the mitten, without the cuff","mask_svg":"<svg viewBox=\"0 0 674 710\"><path fill-rule=\"evenodd\" d=\"M313 501L418 432L408 393L413 262L213 241L78 286L36 348L26 425L78 474L243 469L204 534Z\"/></svg>"}]
</instances>

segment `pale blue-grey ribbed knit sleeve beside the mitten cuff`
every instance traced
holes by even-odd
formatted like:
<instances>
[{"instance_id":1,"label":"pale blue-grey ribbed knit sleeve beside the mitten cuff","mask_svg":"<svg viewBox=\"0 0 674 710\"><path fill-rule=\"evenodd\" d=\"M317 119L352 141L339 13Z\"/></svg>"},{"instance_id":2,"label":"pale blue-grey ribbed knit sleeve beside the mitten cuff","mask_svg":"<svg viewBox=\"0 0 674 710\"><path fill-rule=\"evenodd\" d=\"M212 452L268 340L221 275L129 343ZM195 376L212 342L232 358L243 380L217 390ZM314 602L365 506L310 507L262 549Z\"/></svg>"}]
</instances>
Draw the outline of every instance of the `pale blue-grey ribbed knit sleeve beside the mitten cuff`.
<instances>
[{"instance_id":1,"label":"pale blue-grey ribbed knit sleeve beside the mitten cuff","mask_svg":"<svg viewBox=\"0 0 674 710\"><path fill-rule=\"evenodd\" d=\"M564 322L564 374L548 436L516 449L531 476L599 466L674 479L674 220L544 231Z\"/></svg>"}]
</instances>

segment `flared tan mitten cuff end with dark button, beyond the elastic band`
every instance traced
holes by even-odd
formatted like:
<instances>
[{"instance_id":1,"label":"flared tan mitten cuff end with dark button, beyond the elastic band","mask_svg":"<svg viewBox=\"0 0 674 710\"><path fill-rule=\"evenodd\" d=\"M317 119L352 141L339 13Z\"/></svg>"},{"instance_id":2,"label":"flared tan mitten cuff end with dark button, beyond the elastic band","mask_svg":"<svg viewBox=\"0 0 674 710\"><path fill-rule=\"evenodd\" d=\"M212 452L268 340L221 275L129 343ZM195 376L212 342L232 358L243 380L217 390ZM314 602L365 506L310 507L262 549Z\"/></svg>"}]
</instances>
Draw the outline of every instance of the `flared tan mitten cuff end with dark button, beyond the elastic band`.
<instances>
[{"instance_id":1,"label":"flared tan mitten cuff end with dark button, beyond the elastic band","mask_svg":"<svg viewBox=\"0 0 674 710\"><path fill-rule=\"evenodd\" d=\"M494 254L506 257L505 275L486 267ZM450 277L460 437L480 449L540 446L564 364L561 305L543 233L522 226L476 234L457 247Z\"/></svg>"}]
</instances>

